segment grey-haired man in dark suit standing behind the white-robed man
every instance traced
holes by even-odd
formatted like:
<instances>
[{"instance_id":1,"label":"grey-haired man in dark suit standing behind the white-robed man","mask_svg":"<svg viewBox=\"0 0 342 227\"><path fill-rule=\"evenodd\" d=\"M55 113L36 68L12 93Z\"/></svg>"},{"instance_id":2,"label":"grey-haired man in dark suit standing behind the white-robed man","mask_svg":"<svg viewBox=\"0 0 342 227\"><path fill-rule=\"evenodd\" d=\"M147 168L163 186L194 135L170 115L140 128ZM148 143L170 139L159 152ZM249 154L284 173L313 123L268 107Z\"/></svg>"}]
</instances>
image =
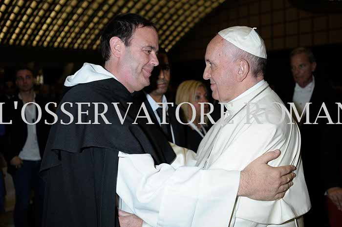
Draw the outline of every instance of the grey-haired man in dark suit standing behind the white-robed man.
<instances>
[{"instance_id":1,"label":"grey-haired man in dark suit standing behind the white-robed man","mask_svg":"<svg viewBox=\"0 0 342 227\"><path fill-rule=\"evenodd\" d=\"M325 195L332 200L336 208L342 210L342 185L338 164L338 139L335 138L337 126L330 128L321 108L326 106L329 117L337 122L336 102L340 102L333 88L328 84L325 75L316 73L317 62L313 52L305 47L298 47L290 53L290 66L293 82L284 86L284 103L293 109L292 113L298 122L301 132L301 157L304 176L312 208L304 215L306 226L327 226L328 217ZM295 108L293 108L295 107ZM318 117L320 115L320 117ZM301 117L299 117L301 116ZM307 122L308 120L308 122ZM331 149L328 149L331 148ZM322 184L317 185L317 176L321 176Z\"/></svg>"}]
</instances>

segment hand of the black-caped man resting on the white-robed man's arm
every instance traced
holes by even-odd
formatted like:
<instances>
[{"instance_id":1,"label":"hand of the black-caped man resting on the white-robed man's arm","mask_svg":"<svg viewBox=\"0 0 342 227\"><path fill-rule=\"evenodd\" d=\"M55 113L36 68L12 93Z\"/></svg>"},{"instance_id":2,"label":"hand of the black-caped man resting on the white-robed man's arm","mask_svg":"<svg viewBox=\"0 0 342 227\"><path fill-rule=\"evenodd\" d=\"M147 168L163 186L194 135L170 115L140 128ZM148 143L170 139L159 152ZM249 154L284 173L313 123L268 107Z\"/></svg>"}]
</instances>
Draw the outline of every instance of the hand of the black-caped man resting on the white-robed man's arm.
<instances>
[{"instance_id":1,"label":"hand of the black-caped man resting on the white-robed man's arm","mask_svg":"<svg viewBox=\"0 0 342 227\"><path fill-rule=\"evenodd\" d=\"M295 166L271 167L269 161L278 158L279 150L267 152L251 162L241 171L238 196L254 200L272 201L284 197L293 185Z\"/></svg>"}]
</instances>

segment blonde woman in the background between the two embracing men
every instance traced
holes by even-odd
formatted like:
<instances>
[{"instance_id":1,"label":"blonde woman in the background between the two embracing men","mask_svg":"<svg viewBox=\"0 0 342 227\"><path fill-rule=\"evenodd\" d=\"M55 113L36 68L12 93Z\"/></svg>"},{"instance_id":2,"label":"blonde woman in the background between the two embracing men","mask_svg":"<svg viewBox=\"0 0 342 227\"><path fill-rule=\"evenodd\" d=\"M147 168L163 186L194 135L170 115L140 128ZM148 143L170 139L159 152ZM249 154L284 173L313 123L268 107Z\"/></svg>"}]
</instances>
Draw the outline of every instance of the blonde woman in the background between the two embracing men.
<instances>
[{"instance_id":1,"label":"blonde woman in the background between the two embracing men","mask_svg":"<svg viewBox=\"0 0 342 227\"><path fill-rule=\"evenodd\" d=\"M191 105L185 104L189 102L193 105L195 118L192 121L193 109ZM197 80L186 80L182 82L176 93L176 104L181 105L184 119L190 122L187 126L187 148L192 151L197 151L198 145L208 131L208 124L199 124L201 117L201 105L199 103L208 102L207 89L203 82ZM209 105L204 104L204 113L208 113ZM202 107L202 108L203 108ZM205 122L207 123L207 118Z\"/></svg>"}]
</instances>

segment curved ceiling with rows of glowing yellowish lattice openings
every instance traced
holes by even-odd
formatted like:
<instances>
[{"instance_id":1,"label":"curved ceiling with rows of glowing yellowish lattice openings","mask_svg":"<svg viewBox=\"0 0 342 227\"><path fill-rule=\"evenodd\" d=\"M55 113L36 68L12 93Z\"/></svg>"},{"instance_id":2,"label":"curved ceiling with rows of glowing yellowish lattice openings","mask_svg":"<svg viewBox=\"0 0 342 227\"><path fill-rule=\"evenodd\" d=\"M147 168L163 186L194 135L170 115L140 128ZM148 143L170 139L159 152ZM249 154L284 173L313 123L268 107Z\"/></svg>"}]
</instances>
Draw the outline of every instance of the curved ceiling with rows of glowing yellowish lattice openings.
<instances>
[{"instance_id":1,"label":"curved ceiling with rows of glowing yellowish lattice openings","mask_svg":"<svg viewBox=\"0 0 342 227\"><path fill-rule=\"evenodd\" d=\"M152 20L167 51L224 0L2 0L0 46L98 50L119 13Z\"/></svg>"}]
</instances>

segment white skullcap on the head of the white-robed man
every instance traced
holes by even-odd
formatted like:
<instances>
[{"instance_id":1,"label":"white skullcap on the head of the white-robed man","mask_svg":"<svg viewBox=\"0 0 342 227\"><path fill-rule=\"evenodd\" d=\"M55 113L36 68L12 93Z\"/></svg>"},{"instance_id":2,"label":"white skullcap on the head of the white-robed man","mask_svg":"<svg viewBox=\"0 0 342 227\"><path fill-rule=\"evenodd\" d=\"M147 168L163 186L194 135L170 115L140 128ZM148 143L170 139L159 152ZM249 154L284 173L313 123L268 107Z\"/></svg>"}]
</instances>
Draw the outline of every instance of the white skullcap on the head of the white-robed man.
<instances>
[{"instance_id":1,"label":"white skullcap on the head of the white-robed man","mask_svg":"<svg viewBox=\"0 0 342 227\"><path fill-rule=\"evenodd\" d=\"M241 50L267 59L264 40L256 33L255 29L246 26L234 26L223 29L218 35Z\"/></svg>"}]
</instances>

